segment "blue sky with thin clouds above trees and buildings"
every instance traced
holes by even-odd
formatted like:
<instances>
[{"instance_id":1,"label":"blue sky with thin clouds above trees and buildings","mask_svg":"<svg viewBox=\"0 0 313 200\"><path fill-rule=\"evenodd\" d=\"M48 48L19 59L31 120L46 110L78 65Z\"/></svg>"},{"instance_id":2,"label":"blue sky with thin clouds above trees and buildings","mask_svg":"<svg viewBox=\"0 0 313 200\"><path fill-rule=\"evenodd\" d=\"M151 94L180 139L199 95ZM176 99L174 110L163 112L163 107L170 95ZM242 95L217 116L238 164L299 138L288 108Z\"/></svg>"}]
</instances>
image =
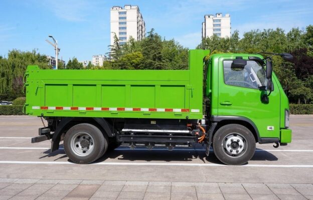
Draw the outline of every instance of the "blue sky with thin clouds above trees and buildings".
<instances>
[{"instance_id":1,"label":"blue sky with thin clouds above trees and buildings","mask_svg":"<svg viewBox=\"0 0 313 200\"><path fill-rule=\"evenodd\" d=\"M53 35L66 62L73 56L91 60L109 51L110 8L125 4L139 6L147 31L154 28L191 49L201 42L205 14L229 13L232 32L241 36L252 29L287 32L313 24L313 0L1 0L0 55L36 49L54 56L45 41Z\"/></svg>"}]
</instances>

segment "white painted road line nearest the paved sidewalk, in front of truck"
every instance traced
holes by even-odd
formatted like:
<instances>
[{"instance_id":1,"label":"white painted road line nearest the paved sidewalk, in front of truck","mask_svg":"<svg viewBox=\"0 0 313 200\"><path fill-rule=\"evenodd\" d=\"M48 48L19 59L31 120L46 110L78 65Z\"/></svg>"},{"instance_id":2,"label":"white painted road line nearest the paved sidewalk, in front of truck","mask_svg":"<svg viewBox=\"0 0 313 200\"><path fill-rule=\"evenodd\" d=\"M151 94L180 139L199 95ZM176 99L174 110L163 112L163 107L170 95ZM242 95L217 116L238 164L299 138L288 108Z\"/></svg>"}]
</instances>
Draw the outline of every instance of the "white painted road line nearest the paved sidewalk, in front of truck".
<instances>
[{"instance_id":1,"label":"white painted road line nearest the paved sidewalk, in front of truck","mask_svg":"<svg viewBox=\"0 0 313 200\"><path fill-rule=\"evenodd\" d=\"M67 161L10 161L0 160L0 164L74 164ZM233 167L306 167L312 168L311 164L246 164L240 166L214 164L214 163L158 163L158 162L98 162L91 165L142 165L142 166L233 166Z\"/></svg>"}]
</instances>

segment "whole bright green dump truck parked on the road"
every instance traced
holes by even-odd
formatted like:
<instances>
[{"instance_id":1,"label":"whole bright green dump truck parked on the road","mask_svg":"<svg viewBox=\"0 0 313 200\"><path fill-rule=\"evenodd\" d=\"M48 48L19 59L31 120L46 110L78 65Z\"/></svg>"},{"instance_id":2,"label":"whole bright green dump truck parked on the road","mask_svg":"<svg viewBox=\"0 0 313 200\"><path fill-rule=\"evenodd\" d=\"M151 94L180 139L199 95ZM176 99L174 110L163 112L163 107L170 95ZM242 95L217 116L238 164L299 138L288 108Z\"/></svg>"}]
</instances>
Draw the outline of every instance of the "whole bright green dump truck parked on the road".
<instances>
[{"instance_id":1,"label":"whole bright green dump truck parked on the road","mask_svg":"<svg viewBox=\"0 0 313 200\"><path fill-rule=\"evenodd\" d=\"M255 144L291 142L289 104L271 57L190 50L188 70L42 70L25 73L26 113L43 117L32 142L63 140L75 163L120 144L206 144L225 164L244 164ZM274 54L273 54L274 55ZM273 56L272 55L272 56ZM290 59L290 54L279 54ZM292 57L292 56L291 56Z\"/></svg>"}]
</instances>

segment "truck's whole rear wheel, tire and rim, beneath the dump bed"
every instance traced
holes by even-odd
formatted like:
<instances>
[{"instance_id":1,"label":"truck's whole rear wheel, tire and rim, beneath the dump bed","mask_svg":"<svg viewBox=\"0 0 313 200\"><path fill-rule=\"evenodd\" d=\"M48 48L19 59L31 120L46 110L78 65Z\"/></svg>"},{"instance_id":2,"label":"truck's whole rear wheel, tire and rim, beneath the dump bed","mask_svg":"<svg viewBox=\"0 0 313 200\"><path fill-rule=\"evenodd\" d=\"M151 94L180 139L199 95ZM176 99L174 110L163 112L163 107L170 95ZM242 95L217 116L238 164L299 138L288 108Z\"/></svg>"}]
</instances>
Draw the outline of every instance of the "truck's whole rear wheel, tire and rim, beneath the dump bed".
<instances>
[{"instance_id":1,"label":"truck's whole rear wheel, tire and rim, beneath the dump bed","mask_svg":"<svg viewBox=\"0 0 313 200\"><path fill-rule=\"evenodd\" d=\"M93 162L105 153L107 147L107 136L89 123L74 125L64 137L65 153L75 163Z\"/></svg>"}]
</instances>

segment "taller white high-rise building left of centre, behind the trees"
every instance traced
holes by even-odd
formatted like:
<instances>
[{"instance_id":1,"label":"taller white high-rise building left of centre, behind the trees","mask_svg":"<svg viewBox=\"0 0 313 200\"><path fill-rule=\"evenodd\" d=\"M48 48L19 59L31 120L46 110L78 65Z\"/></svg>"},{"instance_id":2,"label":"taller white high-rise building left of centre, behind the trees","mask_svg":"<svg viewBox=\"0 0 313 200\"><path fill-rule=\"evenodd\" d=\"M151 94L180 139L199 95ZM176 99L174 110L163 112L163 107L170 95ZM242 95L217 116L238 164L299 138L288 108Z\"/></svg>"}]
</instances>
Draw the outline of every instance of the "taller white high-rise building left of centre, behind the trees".
<instances>
[{"instance_id":1,"label":"taller white high-rise building left of centre, behind the trees","mask_svg":"<svg viewBox=\"0 0 313 200\"><path fill-rule=\"evenodd\" d=\"M114 33L119 38L119 44L126 43L130 36L135 40L144 38L145 24L137 5L111 8L111 45L114 43Z\"/></svg>"}]
</instances>

